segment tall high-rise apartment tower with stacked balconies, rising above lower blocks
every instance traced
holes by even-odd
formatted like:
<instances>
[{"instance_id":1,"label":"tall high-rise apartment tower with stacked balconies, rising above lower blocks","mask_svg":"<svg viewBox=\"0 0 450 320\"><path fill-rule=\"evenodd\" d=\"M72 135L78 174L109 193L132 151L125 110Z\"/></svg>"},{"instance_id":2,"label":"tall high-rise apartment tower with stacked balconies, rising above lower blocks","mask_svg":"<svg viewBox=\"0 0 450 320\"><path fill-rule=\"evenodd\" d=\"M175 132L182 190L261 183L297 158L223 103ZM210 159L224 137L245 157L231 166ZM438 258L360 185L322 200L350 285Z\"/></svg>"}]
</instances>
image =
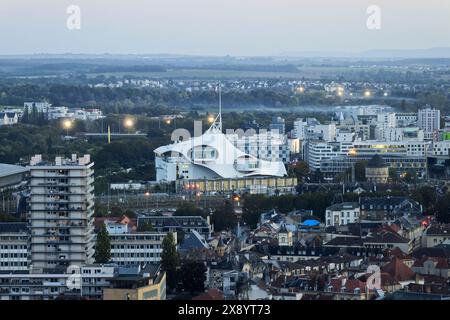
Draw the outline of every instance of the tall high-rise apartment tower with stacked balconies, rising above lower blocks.
<instances>
[{"instance_id":1,"label":"tall high-rise apartment tower with stacked balconies, rising above lower blocks","mask_svg":"<svg viewBox=\"0 0 450 320\"><path fill-rule=\"evenodd\" d=\"M93 262L94 163L90 156L31 158L31 263L37 270Z\"/></svg>"}]
</instances>

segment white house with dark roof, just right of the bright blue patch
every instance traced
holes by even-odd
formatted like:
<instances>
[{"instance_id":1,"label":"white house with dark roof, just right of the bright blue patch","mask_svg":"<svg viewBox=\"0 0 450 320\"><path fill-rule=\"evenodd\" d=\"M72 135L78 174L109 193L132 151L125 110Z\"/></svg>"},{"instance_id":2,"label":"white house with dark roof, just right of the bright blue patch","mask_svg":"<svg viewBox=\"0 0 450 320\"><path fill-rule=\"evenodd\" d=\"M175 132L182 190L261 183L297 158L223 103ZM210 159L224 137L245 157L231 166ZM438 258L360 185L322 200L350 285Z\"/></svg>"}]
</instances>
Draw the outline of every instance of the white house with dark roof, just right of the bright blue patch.
<instances>
[{"instance_id":1,"label":"white house with dark roof, just right of the bright blue patch","mask_svg":"<svg viewBox=\"0 0 450 320\"><path fill-rule=\"evenodd\" d=\"M357 202L334 204L325 211L325 225L327 227L342 226L359 221L360 209Z\"/></svg>"}]
</instances>

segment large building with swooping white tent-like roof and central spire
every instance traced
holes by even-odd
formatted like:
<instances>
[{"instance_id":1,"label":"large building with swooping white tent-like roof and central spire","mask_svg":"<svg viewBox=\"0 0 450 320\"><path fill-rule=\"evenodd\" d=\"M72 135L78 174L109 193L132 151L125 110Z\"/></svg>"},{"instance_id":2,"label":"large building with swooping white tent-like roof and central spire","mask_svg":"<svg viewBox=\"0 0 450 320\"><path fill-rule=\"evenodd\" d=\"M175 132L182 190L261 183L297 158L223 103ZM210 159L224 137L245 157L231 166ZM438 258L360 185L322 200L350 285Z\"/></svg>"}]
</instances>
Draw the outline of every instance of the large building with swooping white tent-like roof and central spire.
<instances>
[{"instance_id":1,"label":"large building with swooping white tent-like roof and central spire","mask_svg":"<svg viewBox=\"0 0 450 320\"><path fill-rule=\"evenodd\" d=\"M249 147L252 144L249 144ZM286 146L287 149L287 146ZM214 124L201 136L159 147L155 150L157 181L178 179L219 179L253 176L283 177L286 168L280 160L263 160L252 152L267 150L267 158L272 151L280 151L280 145L270 143L267 147L247 152L237 148L222 133L221 114ZM269 153L270 151L270 153Z\"/></svg>"}]
</instances>

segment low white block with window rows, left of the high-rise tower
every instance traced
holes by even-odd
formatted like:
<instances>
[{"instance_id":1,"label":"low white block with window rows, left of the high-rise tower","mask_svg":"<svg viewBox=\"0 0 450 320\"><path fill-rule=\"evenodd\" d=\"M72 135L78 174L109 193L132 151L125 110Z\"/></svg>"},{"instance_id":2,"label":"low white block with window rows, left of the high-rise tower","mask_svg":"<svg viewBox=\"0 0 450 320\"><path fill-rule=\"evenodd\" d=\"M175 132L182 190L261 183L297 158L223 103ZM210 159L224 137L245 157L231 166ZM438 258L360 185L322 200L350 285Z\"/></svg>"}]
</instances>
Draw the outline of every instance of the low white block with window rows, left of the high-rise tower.
<instances>
[{"instance_id":1,"label":"low white block with window rows, left of the high-rise tower","mask_svg":"<svg viewBox=\"0 0 450 320\"><path fill-rule=\"evenodd\" d=\"M28 270L27 223L0 223L0 272Z\"/></svg>"}]
</instances>

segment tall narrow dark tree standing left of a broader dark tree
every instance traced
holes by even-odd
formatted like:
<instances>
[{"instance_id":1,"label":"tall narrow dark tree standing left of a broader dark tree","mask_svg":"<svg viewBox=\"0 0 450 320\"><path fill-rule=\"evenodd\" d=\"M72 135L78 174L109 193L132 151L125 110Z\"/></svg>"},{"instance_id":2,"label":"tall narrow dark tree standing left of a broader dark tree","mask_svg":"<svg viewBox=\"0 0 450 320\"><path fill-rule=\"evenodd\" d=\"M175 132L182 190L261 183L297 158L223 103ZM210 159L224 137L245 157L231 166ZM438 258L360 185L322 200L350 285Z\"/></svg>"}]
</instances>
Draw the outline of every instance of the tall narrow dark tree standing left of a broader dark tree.
<instances>
[{"instance_id":1,"label":"tall narrow dark tree standing left of a broader dark tree","mask_svg":"<svg viewBox=\"0 0 450 320\"><path fill-rule=\"evenodd\" d=\"M166 272L167 286L170 289L175 289L178 278L177 269L180 265L175 239L173 234L169 232L163 239L161 252L161 266Z\"/></svg>"}]
</instances>

